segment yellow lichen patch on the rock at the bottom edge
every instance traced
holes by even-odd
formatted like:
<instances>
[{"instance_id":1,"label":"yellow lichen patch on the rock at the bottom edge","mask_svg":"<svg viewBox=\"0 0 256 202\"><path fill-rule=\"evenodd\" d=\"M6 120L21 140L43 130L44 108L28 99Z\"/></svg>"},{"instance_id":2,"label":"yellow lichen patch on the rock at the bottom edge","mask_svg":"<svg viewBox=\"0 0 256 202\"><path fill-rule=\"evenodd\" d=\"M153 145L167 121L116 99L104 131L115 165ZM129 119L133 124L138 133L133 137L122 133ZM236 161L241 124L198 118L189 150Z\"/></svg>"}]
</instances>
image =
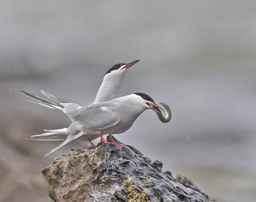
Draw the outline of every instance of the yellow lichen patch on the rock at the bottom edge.
<instances>
[{"instance_id":1,"label":"yellow lichen patch on the rock at the bottom edge","mask_svg":"<svg viewBox=\"0 0 256 202\"><path fill-rule=\"evenodd\" d=\"M131 197L131 199L129 200L129 202L152 202L152 199L148 199L147 194L145 193L140 193L137 190L134 189L133 182L132 180L124 180L123 183L124 187L126 187L128 189L128 192L130 192L128 194L128 196Z\"/></svg>"}]
</instances>

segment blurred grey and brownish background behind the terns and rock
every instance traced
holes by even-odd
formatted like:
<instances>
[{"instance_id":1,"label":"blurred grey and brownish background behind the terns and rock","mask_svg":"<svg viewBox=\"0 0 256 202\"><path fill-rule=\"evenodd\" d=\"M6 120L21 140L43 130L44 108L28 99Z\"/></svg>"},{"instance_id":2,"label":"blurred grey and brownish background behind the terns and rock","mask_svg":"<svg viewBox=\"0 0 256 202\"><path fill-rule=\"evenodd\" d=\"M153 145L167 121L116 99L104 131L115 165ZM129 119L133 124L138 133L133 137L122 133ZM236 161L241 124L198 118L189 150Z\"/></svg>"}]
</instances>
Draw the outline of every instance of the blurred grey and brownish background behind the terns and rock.
<instances>
[{"instance_id":1,"label":"blurred grey and brownish background behind the terns and rock","mask_svg":"<svg viewBox=\"0 0 256 202\"><path fill-rule=\"evenodd\" d=\"M217 201L255 201L255 1L1 1L0 201L51 201L40 173L88 143L31 142L67 127L65 114L26 102L44 89L90 104L115 63L140 59L119 95L170 105L116 137ZM97 139L99 141L99 139ZM96 142L97 142L96 141Z\"/></svg>"}]
</instances>

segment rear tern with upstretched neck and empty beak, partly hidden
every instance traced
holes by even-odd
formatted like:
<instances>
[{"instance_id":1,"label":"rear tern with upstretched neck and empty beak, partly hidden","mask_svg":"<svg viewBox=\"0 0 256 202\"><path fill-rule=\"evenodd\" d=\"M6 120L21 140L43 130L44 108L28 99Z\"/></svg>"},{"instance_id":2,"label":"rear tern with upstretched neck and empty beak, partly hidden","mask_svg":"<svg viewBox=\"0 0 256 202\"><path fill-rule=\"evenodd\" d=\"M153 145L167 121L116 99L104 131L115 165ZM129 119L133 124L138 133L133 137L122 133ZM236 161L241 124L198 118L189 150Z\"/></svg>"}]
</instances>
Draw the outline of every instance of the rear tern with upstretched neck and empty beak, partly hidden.
<instances>
[{"instance_id":1,"label":"rear tern with upstretched neck and empty beak, partly hidden","mask_svg":"<svg viewBox=\"0 0 256 202\"><path fill-rule=\"evenodd\" d=\"M104 75L102 84L100 85L100 88L97 92L97 95L95 97L95 100L93 101L93 104L96 104L98 102L105 102L108 100L111 100L113 98L117 97L117 92L120 87L120 84L122 80L124 79L125 73L127 70L134 64L138 63L140 60L135 60L130 63L118 63L111 68L109 68L108 72ZM41 93L48 98L48 100L45 100L40 97L36 97L34 95L31 95L29 93L26 93L25 91L22 91L29 97L35 98L38 102L35 102L40 105L44 105L45 107L49 107L51 109L58 109L62 107L60 103L68 103L64 100L60 100L59 98L54 97L50 93L47 93L43 90L41 90ZM30 100L29 100L30 101ZM34 101L30 101L34 102ZM52 107L52 105L55 105L55 107ZM30 136L33 140L39 140L39 141L63 141L67 138L69 134L77 134L80 133L80 131L77 130L77 128L74 126L73 123L68 128L61 128L61 129L55 129L55 130L45 130L44 134L40 135L34 135ZM95 136L93 139L97 138L99 136ZM95 146L92 143L92 137L88 138L88 141L92 144L92 146Z\"/></svg>"}]
</instances>

